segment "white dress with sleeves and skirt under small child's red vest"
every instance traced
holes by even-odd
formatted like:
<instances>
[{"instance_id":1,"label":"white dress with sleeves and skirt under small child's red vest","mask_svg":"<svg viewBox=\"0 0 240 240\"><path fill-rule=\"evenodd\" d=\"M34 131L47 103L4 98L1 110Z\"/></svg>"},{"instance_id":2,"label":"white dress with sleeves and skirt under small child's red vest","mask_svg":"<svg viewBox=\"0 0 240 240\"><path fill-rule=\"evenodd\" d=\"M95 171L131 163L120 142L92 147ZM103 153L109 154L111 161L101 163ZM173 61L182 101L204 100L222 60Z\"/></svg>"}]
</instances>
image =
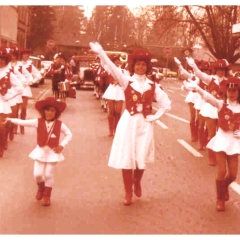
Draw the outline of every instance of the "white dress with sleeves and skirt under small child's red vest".
<instances>
[{"instance_id":1,"label":"white dress with sleeves and skirt under small child's red vest","mask_svg":"<svg viewBox=\"0 0 240 240\"><path fill-rule=\"evenodd\" d=\"M37 118L29 119L29 120L11 118L11 122L14 124L17 124L17 125L24 126L24 127L34 127L36 129L38 127L38 119ZM46 128L51 129L51 126L53 125L53 123L54 122L47 124L47 122L46 122ZM61 124L61 133L64 135L64 138L60 141L59 145L65 147L71 141L72 133L63 122ZM54 137L52 135L50 137ZM40 147L38 145L29 154L29 157L33 160L38 160L41 162L60 162L65 159L62 153L55 153L49 147L44 148L44 147Z\"/></svg>"}]
</instances>

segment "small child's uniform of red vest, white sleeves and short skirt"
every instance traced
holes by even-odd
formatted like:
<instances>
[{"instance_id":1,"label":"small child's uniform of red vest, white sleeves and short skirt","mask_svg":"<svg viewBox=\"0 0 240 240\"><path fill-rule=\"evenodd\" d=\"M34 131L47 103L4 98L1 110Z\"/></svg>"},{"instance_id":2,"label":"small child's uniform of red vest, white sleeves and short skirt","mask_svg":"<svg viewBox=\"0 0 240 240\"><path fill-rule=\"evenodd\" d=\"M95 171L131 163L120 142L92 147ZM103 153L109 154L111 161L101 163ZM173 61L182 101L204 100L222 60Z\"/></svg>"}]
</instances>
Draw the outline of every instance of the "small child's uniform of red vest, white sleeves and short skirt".
<instances>
[{"instance_id":1,"label":"small child's uniform of red vest, white sleeves and short skirt","mask_svg":"<svg viewBox=\"0 0 240 240\"><path fill-rule=\"evenodd\" d=\"M58 145L65 147L72 139L71 131L63 122L60 120L54 120L47 123L42 118L29 120L12 118L11 122L20 126L37 129L37 146L29 154L31 159L41 162L60 162L65 159L62 153L55 153L52 149ZM64 135L61 142L59 140L60 133Z\"/></svg>"}]
</instances>

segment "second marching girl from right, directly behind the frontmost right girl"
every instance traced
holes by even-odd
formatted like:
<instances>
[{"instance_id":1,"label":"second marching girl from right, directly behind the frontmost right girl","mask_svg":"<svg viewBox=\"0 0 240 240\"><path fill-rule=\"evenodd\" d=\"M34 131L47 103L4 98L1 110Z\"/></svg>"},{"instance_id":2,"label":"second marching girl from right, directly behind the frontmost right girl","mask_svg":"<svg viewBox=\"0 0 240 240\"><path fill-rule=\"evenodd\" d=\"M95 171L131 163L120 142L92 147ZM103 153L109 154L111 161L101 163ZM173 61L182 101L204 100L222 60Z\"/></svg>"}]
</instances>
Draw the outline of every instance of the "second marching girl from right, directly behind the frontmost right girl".
<instances>
[{"instance_id":1,"label":"second marching girl from right, directly behind the frontmost right girl","mask_svg":"<svg viewBox=\"0 0 240 240\"><path fill-rule=\"evenodd\" d=\"M195 64L194 60L192 58L186 58L188 64L193 68L194 73L196 76L201 79L203 82L205 82L208 86L208 91L218 99L222 98L222 91L220 89L220 83L222 81L226 81L226 76L228 75L228 72L230 70L230 64L226 59L218 59L214 65L213 68L213 75L208 75L204 72L202 72L197 65ZM207 132L208 132L208 141L210 141L217 132L217 120L218 120L218 113L217 108L212 106L208 102L204 102L200 114L205 117L206 120L206 126L207 126ZM208 164L210 166L216 166L216 156L214 151L211 149L208 149Z\"/></svg>"}]
</instances>

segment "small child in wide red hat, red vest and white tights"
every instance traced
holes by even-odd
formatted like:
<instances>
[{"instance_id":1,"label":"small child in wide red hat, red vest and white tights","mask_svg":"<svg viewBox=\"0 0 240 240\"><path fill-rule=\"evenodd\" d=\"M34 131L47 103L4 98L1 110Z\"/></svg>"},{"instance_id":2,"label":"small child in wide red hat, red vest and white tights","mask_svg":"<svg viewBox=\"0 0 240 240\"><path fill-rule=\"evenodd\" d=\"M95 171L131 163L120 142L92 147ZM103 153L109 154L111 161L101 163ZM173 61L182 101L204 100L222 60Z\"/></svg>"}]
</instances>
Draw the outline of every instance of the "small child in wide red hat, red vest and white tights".
<instances>
[{"instance_id":1,"label":"small child in wide red hat, red vest and white tights","mask_svg":"<svg viewBox=\"0 0 240 240\"><path fill-rule=\"evenodd\" d=\"M47 97L36 102L35 108L40 118L22 120L6 118L14 124L37 129L37 146L29 154L34 162L34 178L38 185L37 200L42 200L44 206L51 204L50 197L53 187L53 171L57 163L65 158L62 150L72 139L68 127L58 118L66 108L66 103L57 101L54 97ZM60 142L60 134L64 138Z\"/></svg>"}]
</instances>

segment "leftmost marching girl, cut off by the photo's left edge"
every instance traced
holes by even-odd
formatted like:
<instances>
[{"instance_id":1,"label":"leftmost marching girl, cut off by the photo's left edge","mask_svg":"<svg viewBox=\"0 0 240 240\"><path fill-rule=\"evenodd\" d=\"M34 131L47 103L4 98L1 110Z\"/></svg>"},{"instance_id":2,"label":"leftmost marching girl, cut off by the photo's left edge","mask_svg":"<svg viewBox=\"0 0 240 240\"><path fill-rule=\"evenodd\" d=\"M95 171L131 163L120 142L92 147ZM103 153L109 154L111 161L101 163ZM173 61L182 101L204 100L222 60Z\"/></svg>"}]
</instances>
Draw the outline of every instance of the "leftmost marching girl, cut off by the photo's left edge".
<instances>
[{"instance_id":1,"label":"leftmost marching girl, cut off by the photo's left edge","mask_svg":"<svg viewBox=\"0 0 240 240\"><path fill-rule=\"evenodd\" d=\"M23 85L9 69L10 54L6 47L0 47L0 157L8 145L9 124L2 124L3 119L12 113L10 99L21 94Z\"/></svg>"}]
</instances>

